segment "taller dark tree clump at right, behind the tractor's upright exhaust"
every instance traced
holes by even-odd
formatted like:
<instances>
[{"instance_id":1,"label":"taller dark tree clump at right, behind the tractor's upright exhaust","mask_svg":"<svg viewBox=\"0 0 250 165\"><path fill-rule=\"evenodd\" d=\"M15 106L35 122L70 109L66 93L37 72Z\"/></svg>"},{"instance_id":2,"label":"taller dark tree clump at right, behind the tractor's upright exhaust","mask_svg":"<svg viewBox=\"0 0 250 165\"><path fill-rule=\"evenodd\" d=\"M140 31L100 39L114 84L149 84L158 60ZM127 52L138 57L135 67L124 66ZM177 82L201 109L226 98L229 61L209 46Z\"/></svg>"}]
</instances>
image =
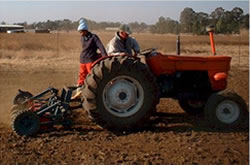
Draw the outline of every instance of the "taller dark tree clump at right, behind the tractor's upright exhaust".
<instances>
[{"instance_id":1,"label":"taller dark tree clump at right, behind the tractor's upright exhaust","mask_svg":"<svg viewBox=\"0 0 250 165\"><path fill-rule=\"evenodd\" d=\"M222 7L216 8L211 14L195 12L192 8L185 8L180 15L180 22L169 17L160 17L158 22L150 28L152 33L193 33L206 34L207 26L214 26L216 33L235 34L240 29L249 29L249 14L241 8L235 7L226 11Z\"/></svg>"}]
</instances>

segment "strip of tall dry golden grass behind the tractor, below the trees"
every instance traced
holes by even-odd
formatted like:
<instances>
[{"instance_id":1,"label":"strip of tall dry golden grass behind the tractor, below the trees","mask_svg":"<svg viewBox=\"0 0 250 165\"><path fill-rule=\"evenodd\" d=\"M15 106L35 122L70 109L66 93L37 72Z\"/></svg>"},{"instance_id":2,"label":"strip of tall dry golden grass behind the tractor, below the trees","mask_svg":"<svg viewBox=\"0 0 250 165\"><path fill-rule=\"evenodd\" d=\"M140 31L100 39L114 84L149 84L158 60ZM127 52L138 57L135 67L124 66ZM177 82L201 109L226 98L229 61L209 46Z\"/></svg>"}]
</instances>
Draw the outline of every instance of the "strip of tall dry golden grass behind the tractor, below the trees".
<instances>
[{"instance_id":1,"label":"strip of tall dry golden grass behind the tractor, below the trees","mask_svg":"<svg viewBox=\"0 0 250 165\"><path fill-rule=\"evenodd\" d=\"M114 32L94 32L106 45ZM157 48L163 54L175 54L176 35L135 33L141 49ZM248 68L248 31L241 35L215 35L218 55L232 56L232 64ZM0 34L0 69L8 66L23 68L77 68L81 51L77 32L53 34ZM181 35L182 55L211 55L208 36ZM1 67L4 66L4 67Z\"/></svg>"}]
</instances>

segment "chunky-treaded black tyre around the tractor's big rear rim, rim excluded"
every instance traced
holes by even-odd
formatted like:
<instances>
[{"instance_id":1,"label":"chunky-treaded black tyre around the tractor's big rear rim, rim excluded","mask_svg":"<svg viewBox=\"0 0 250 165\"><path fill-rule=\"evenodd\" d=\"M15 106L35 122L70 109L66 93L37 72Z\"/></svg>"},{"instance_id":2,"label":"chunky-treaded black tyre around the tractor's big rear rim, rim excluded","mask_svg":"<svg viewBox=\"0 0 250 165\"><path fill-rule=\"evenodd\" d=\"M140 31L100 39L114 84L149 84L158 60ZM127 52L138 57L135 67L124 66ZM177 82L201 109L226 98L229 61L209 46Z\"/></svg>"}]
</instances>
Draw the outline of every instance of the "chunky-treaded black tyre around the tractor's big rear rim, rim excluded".
<instances>
[{"instance_id":1,"label":"chunky-treaded black tyre around the tractor's big rear rim, rim excluded","mask_svg":"<svg viewBox=\"0 0 250 165\"><path fill-rule=\"evenodd\" d=\"M83 102L83 107L84 109L88 112L90 118L95 121L97 124L102 126L103 128L108 128L111 130L127 130L133 128L138 128L142 127L145 125L145 123L148 121L149 117L151 114L153 114L156 110L156 105L159 103L159 98L158 98L158 87L156 85L156 79L154 78L153 74L150 73L149 69L147 66L143 63L141 63L138 59L135 59L134 57L128 57L128 56L117 56L117 57L111 57L104 59L101 61L99 64L96 64L94 68L92 68L91 74L92 76L89 76L87 79L90 80L85 80L85 82L93 82L92 84L98 84L101 81L105 79L105 75L109 75L111 72L112 74L120 74L120 71L126 71L128 70L129 72L133 73L136 72L138 75L144 75L144 81L145 82L150 82L151 84L147 84L145 88L148 88L150 93L152 93L151 96L149 96L152 100L152 107L150 107L150 110L146 112L146 114L143 115L139 121L130 121L130 124L128 125L114 125L113 122L116 122L116 119L113 119L114 121L109 121L109 120L104 120L103 118L100 117L100 112L97 109L98 103L93 103L94 97L92 97L90 94L85 94L85 91L88 91L89 88L91 88L93 93L97 92L97 86L91 85L90 83L85 84L85 88L83 89L83 97L84 97L84 102ZM96 78L94 78L96 77ZM87 92L88 93L88 92ZM107 116L106 116L107 118ZM119 120L119 119L117 119ZM117 122L119 123L119 122Z\"/></svg>"}]
</instances>

